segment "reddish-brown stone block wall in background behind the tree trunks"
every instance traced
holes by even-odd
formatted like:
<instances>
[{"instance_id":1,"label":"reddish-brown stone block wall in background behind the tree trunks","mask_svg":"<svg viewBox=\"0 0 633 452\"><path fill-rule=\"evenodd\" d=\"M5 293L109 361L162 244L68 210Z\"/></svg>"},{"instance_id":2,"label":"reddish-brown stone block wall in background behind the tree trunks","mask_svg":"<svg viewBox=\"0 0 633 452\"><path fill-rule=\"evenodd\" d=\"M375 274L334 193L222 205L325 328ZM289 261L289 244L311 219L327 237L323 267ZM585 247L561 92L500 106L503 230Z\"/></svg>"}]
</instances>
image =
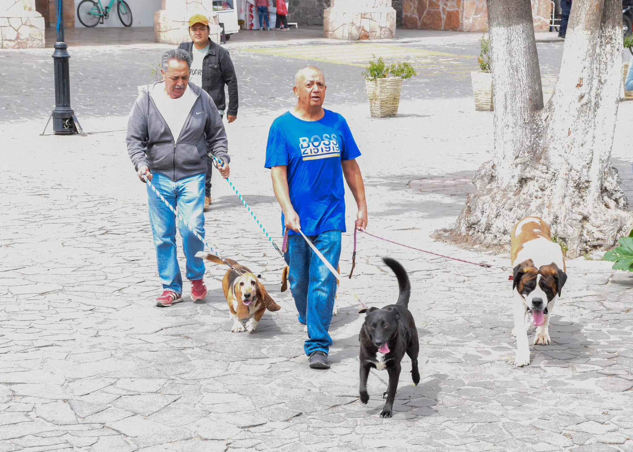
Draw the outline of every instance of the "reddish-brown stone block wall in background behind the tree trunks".
<instances>
[{"instance_id":1,"label":"reddish-brown stone block wall in background behind the tree trunks","mask_svg":"<svg viewBox=\"0 0 633 452\"><path fill-rule=\"evenodd\" d=\"M551 0L532 0L534 30L549 29ZM404 28L481 32L486 30L486 0L403 0Z\"/></svg>"}]
</instances>

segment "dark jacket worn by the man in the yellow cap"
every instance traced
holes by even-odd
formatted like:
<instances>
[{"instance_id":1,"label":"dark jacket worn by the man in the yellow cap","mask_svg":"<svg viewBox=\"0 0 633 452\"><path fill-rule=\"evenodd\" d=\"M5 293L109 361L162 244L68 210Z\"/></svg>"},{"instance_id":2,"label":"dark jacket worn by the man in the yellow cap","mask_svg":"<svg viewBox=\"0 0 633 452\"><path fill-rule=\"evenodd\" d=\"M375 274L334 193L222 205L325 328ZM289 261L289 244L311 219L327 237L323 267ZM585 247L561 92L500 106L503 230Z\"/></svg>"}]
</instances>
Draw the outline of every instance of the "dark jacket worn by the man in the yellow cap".
<instances>
[{"instance_id":1,"label":"dark jacket worn by the man in the yellow cap","mask_svg":"<svg viewBox=\"0 0 633 452\"><path fill-rule=\"evenodd\" d=\"M209 51L202 63L202 89L208 92L218 110L227 115L237 116L237 75L229 51L209 39ZM179 49L193 52L194 42L181 42ZM227 108L224 85L229 87L229 108Z\"/></svg>"}]
</instances>

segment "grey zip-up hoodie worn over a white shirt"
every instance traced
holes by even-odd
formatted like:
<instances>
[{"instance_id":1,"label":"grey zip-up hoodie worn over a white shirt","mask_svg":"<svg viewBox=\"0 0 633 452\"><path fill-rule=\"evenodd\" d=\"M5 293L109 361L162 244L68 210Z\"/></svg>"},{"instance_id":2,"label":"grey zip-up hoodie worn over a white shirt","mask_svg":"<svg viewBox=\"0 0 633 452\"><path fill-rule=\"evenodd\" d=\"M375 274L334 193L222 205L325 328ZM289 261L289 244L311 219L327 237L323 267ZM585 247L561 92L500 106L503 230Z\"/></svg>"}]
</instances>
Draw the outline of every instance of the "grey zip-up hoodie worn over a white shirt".
<instances>
[{"instance_id":1,"label":"grey zip-up hoodie worn over a white shirt","mask_svg":"<svg viewBox=\"0 0 633 452\"><path fill-rule=\"evenodd\" d=\"M154 85L164 82L156 82ZM196 101L174 142L172 131L151 97L154 85L147 86L137 97L127 122L127 153L138 171L142 165L173 181L206 173L206 153L211 152L225 163L230 162L227 134L220 113L211 96L189 83Z\"/></svg>"}]
</instances>

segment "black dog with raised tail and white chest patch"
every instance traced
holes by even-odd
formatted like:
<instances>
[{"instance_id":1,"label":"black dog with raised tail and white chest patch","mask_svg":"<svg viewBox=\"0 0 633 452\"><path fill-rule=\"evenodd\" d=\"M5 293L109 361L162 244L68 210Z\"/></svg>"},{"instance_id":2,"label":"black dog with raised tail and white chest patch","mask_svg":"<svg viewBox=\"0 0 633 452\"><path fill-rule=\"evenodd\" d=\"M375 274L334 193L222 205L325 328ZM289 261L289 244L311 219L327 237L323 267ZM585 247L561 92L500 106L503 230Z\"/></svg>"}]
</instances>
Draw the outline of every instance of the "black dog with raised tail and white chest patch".
<instances>
[{"instance_id":1,"label":"black dog with raised tail and white chest patch","mask_svg":"<svg viewBox=\"0 0 633 452\"><path fill-rule=\"evenodd\" d=\"M389 386L382 394L387 399L380 417L391 417L391 410L396 397L396 388L400 377L400 363L404 353L411 358L411 376L417 385L420 382L418 371L418 330L415 320L408 310L411 296L411 283L406 270L391 258L382 258L385 264L396 273L398 278L398 302L389 304L382 309L361 309L358 313L367 312L365 323L360 330L360 401L367 403L367 377L370 368L387 369L389 372Z\"/></svg>"}]
</instances>

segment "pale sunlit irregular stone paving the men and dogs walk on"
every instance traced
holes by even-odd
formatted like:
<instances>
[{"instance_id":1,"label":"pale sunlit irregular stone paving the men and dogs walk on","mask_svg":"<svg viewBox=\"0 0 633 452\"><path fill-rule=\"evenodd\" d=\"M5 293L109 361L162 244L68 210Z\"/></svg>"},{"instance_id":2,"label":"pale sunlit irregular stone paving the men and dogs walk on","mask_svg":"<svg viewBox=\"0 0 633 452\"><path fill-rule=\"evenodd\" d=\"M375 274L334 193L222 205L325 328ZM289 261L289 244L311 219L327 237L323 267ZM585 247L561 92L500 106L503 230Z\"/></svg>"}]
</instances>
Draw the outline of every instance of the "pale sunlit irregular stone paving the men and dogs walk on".
<instances>
[{"instance_id":1,"label":"pale sunlit irregular stone paving the men and dogs walk on","mask_svg":"<svg viewBox=\"0 0 633 452\"><path fill-rule=\"evenodd\" d=\"M121 92L122 102L133 97ZM491 113L473 111L468 98L405 100L386 120L368 118L358 99L327 106L348 118L363 151L369 229L508 265L507 256L429 239L451 226L472 190L465 181L490 158ZM281 106L265 107L244 108L227 133L232 180L279 240L262 163ZM0 123L0 451L633 451L630 275L569 261L553 343L532 348L531 365L516 368L506 270L361 234L330 328L332 368L310 370L292 299L279 292L284 262L218 177L208 240L262 272L282 310L266 313L255 334L231 333L223 269L211 265L206 303L185 292L184 303L153 306L160 290L146 192L125 153L125 116L115 113L85 115L87 137L39 136L39 121ZM632 113L633 103L620 104L613 150L629 198ZM348 272L350 232L343 248ZM396 414L385 420L384 372L370 374L368 405L358 401L363 318L353 297L394 301L384 255L410 273L422 374L413 386L404 363Z\"/></svg>"}]
</instances>

